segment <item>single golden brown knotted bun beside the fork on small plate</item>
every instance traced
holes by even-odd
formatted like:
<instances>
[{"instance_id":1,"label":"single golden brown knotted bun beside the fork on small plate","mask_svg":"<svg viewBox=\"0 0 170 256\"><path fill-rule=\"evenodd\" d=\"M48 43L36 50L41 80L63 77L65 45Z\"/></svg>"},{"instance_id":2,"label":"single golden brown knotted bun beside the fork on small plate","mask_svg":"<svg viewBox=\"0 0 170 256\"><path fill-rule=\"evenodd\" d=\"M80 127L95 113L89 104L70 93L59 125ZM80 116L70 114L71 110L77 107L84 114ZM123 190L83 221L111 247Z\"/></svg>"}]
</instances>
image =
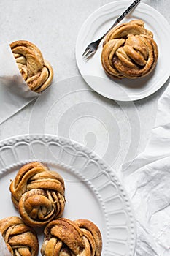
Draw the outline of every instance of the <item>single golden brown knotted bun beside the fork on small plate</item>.
<instances>
[{"instance_id":1,"label":"single golden brown knotted bun beside the fork on small plate","mask_svg":"<svg viewBox=\"0 0 170 256\"><path fill-rule=\"evenodd\" d=\"M101 64L111 78L142 78L157 60L158 46L142 20L115 27L104 39Z\"/></svg>"}]
</instances>

